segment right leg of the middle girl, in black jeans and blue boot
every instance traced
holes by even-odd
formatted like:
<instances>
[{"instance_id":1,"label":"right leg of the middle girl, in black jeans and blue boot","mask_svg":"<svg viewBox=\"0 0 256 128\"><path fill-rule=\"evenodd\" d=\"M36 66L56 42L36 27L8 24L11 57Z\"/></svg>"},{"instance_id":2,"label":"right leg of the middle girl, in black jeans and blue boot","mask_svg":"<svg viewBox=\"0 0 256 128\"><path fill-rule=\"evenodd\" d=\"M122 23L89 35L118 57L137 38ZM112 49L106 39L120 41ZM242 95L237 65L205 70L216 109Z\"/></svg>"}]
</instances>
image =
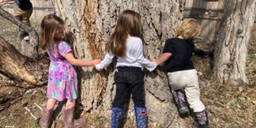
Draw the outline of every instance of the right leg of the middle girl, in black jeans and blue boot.
<instances>
[{"instance_id":1,"label":"right leg of the middle girl, in black jeans and blue boot","mask_svg":"<svg viewBox=\"0 0 256 128\"><path fill-rule=\"evenodd\" d=\"M147 112L144 101L144 81L141 70L131 73L130 90L134 102L134 111L136 116L137 128L147 128Z\"/></svg>"}]
</instances>

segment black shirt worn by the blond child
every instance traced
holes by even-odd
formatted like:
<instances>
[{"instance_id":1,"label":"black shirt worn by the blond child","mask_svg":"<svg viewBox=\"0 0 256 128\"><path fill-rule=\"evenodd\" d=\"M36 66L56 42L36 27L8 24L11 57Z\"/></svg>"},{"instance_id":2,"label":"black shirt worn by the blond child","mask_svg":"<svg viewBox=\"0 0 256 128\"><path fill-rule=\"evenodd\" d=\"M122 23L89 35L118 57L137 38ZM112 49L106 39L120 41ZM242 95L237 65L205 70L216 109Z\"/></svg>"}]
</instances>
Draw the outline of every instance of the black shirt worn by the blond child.
<instances>
[{"instance_id":1,"label":"black shirt worn by the blond child","mask_svg":"<svg viewBox=\"0 0 256 128\"><path fill-rule=\"evenodd\" d=\"M166 61L166 71L169 73L195 69L191 61L192 53L196 55L210 54L210 52L197 49L192 41L180 38L167 39L163 53L172 53L172 56Z\"/></svg>"}]
</instances>

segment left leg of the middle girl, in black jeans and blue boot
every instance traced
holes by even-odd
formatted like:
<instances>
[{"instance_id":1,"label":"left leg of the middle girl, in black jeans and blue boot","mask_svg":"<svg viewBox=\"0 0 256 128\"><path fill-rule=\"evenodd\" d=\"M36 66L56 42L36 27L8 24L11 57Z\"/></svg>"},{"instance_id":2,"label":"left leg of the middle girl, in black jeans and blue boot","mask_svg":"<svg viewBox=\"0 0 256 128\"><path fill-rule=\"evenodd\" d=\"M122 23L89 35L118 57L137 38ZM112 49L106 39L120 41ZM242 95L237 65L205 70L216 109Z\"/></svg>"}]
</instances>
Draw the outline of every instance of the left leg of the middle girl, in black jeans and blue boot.
<instances>
[{"instance_id":1,"label":"left leg of the middle girl, in black jeans and blue boot","mask_svg":"<svg viewBox=\"0 0 256 128\"><path fill-rule=\"evenodd\" d=\"M116 96L112 105L112 115L111 115L111 128L119 128L119 122L122 115L122 107L125 103L125 99L129 90L128 84L125 83L124 77L125 72L115 73L115 83L116 83Z\"/></svg>"}]
</instances>

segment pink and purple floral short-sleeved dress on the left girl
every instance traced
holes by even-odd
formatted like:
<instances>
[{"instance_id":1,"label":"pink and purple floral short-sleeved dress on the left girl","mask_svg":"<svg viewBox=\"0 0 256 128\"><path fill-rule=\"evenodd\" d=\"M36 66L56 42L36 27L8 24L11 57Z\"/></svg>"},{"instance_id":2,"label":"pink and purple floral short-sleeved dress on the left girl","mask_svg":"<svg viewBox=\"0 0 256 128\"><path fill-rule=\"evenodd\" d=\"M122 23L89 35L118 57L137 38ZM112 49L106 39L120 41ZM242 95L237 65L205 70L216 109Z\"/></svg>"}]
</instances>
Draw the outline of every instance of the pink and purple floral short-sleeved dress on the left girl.
<instances>
[{"instance_id":1,"label":"pink and purple floral short-sleeved dress on the left girl","mask_svg":"<svg viewBox=\"0 0 256 128\"><path fill-rule=\"evenodd\" d=\"M58 101L77 99L78 80L74 67L64 58L72 49L67 42L56 42L54 51L47 47L51 59L47 97Z\"/></svg>"}]
</instances>

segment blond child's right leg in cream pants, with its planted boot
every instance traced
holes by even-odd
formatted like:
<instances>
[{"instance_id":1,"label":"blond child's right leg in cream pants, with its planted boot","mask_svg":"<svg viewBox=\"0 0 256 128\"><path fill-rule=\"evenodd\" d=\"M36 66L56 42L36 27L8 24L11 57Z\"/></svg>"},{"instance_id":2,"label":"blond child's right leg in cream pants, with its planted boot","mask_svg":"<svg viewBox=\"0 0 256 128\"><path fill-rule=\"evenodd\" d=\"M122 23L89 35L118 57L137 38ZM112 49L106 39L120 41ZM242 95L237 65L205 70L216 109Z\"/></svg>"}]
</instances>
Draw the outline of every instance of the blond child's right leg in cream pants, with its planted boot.
<instances>
[{"instance_id":1,"label":"blond child's right leg in cream pants, with its planted boot","mask_svg":"<svg viewBox=\"0 0 256 128\"><path fill-rule=\"evenodd\" d=\"M190 108L195 112L196 120L192 123L192 128L209 128L209 121L206 108L200 100L200 89L197 73L189 75L188 84L185 87L186 98Z\"/></svg>"}]
</instances>

